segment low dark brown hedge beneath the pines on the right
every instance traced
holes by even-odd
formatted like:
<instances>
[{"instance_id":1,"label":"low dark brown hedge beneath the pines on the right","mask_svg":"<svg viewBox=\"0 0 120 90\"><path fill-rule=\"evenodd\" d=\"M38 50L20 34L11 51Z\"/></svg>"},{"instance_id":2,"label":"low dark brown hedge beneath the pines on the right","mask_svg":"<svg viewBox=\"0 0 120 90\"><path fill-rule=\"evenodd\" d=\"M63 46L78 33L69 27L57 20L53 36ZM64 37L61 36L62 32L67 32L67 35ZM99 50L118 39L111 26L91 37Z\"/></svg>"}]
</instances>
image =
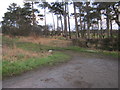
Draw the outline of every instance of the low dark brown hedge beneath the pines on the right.
<instances>
[{"instance_id":1,"label":"low dark brown hedge beneath the pines on the right","mask_svg":"<svg viewBox=\"0 0 120 90\"><path fill-rule=\"evenodd\" d=\"M117 38L89 39L89 40L73 39L72 43L73 45L85 48L89 47L109 51L120 50L118 47L119 41Z\"/></svg>"}]
</instances>

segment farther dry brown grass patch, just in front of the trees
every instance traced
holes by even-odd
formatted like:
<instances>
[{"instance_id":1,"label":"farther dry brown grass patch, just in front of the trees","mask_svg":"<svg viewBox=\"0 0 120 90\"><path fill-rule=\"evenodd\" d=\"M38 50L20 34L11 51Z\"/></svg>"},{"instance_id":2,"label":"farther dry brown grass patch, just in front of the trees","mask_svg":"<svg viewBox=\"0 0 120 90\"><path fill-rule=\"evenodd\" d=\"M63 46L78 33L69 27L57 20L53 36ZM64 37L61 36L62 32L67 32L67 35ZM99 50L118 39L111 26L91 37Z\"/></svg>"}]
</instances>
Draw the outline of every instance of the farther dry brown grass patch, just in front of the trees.
<instances>
[{"instance_id":1,"label":"farther dry brown grass patch, just in front of the trees","mask_svg":"<svg viewBox=\"0 0 120 90\"><path fill-rule=\"evenodd\" d=\"M55 38L43 38L43 37L19 37L20 41L24 42L32 42L37 43L41 45L47 45L47 46L57 46L57 47L67 47L71 45L71 41L68 40L59 40Z\"/></svg>"}]
</instances>

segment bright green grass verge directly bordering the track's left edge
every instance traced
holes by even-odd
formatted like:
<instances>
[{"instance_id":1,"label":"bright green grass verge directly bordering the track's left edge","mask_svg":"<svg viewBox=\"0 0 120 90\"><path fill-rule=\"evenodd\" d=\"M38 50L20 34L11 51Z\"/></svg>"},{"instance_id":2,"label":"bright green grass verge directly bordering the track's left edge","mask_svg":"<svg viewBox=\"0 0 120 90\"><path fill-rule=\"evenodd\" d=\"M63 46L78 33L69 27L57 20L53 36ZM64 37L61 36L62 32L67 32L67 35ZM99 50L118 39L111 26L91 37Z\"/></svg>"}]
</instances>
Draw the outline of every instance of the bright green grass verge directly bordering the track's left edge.
<instances>
[{"instance_id":1,"label":"bright green grass verge directly bordering the track's left edge","mask_svg":"<svg viewBox=\"0 0 120 90\"><path fill-rule=\"evenodd\" d=\"M37 67L53 66L57 63L65 62L69 58L70 56L57 52L44 58L29 58L28 60L15 62L3 61L3 77L17 75Z\"/></svg>"}]
</instances>

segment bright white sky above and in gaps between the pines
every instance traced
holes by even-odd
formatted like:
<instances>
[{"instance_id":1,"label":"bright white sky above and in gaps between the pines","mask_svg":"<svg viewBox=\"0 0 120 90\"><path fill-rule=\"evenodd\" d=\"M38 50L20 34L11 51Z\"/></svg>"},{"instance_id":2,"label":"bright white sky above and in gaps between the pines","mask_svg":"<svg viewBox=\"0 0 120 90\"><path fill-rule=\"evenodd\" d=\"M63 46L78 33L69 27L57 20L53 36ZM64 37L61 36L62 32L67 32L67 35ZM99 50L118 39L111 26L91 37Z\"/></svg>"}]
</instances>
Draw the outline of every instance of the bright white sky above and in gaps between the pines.
<instances>
[{"instance_id":1,"label":"bright white sky above and in gaps between the pines","mask_svg":"<svg viewBox=\"0 0 120 90\"><path fill-rule=\"evenodd\" d=\"M17 3L17 5L22 6L23 1L24 0L2 0L2 2L0 3L0 21L2 21L2 17L4 16L4 13L7 11L7 8L11 3L14 2L14 3ZM73 12L73 7L70 6L69 10L70 10L70 12ZM43 13L43 10L40 10L40 12ZM55 24L57 24L57 19L56 19L55 15L54 15L54 18L55 18ZM46 20L47 20L47 24L52 25L52 23L53 23L52 14L47 14ZM39 21L39 23L44 25L44 21ZM74 23L75 23L74 19L70 19L71 29L74 29L74 26L75 26ZM104 27L106 27L106 24L104 24ZM118 29L118 25L115 22L113 23L113 29Z\"/></svg>"}]
</instances>

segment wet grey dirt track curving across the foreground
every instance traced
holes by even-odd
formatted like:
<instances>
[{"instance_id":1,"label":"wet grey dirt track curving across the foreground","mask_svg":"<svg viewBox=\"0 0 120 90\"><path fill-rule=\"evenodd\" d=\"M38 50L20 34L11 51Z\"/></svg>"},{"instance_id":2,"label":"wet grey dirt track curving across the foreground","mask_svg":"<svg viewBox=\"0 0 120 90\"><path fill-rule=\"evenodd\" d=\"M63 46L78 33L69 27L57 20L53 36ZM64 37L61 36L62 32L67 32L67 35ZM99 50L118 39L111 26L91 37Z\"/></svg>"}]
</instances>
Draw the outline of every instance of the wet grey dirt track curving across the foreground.
<instances>
[{"instance_id":1,"label":"wet grey dirt track curving across the foreground","mask_svg":"<svg viewBox=\"0 0 120 90\"><path fill-rule=\"evenodd\" d=\"M117 88L118 60L96 54L66 52L72 60L3 81L3 88Z\"/></svg>"}]
</instances>

